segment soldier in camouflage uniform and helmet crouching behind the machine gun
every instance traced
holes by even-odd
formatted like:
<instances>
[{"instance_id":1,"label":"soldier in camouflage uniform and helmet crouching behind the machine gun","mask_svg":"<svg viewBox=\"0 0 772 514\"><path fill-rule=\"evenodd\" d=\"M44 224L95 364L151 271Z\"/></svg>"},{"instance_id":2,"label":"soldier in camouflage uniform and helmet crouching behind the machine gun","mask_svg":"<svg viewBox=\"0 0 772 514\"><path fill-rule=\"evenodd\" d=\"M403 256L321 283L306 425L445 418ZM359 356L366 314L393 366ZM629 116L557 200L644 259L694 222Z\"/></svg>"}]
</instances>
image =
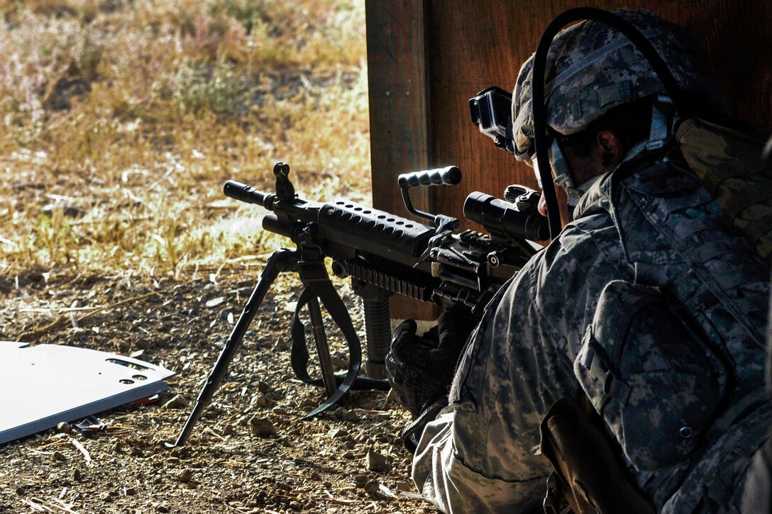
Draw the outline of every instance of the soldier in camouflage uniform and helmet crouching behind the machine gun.
<instances>
[{"instance_id":1,"label":"soldier in camouflage uniform and helmet crouching behind the machine gun","mask_svg":"<svg viewBox=\"0 0 772 514\"><path fill-rule=\"evenodd\" d=\"M617 14L694 106L724 111L684 29L645 11ZM513 134L516 157L535 164L532 66L533 57L517 78ZM590 463L590 473L624 478L650 506L641 510L738 512L750 456L772 421L769 269L689 170L672 103L625 36L591 21L560 32L546 80L563 230L489 304L447 396L439 370L455 366L462 331L441 318L439 347L414 323L395 331L390 380L425 421L412 477L444 512L537 509L553 471L537 455L540 426L554 438L542 421L571 398L594 407L611 445L613 462ZM585 462L571 454L586 449L578 446L558 445L566 453L557 460ZM580 482L568 484L573 499L603 512L604 499Z\"/></svg>"}]
</instances>

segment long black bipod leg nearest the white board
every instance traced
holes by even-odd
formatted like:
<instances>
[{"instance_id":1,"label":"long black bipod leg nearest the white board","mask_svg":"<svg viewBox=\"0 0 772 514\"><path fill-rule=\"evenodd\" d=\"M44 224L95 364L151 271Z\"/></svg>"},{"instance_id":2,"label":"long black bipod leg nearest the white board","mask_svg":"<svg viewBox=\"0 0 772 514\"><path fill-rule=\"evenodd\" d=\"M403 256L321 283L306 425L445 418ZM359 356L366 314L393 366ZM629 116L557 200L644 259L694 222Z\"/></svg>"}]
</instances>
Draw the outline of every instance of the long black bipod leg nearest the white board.
<instances>
[{"instance_id":1,"label":"long black bipod leg nearest the white board","mask_svg":"<svg viewBox=\"0 0 772 514\"><path fill-rule=\"evenodd\" d=\"M191 414L188 416L188 421L185 421L185 427L182 428L182 431L177 438L177 442L175 442L174 445L166 443L167 448L185 445L185 441L188 440L188 437L190 437L191 432L193 431L195 422L198 421L198 418L201 417L205 407L212 401L212 396L214 396L215 391L217 391L217 388L222 381L222 377L225 376L225 371L228 370L228 365L231 363L231 360L233 360L236 350L239 349L239 344L242 342L242 339L244 339L244 334L249 328L249 324L252 323L252 320L255 318L262 300L266 297L266 293L268 293L268 289L273 284L273 281L276 280L276 277L279 276L279 272L290 269L293 264L296 265L297 260L293 260L294 254L295 252L292 250L280 249L273 252L273 255L269 257L268 262L266 262L266 267L262 269L260 279L257 281L255 289L252 290L252 294L249 296L249 300L244 306L241 316L239 316L239 321L233 327L228 340L225 341L225 347L222 348L220 356L217 357L215 367L212 367L204 387L201 388L201 393L199 393L198 398L196 398L193 411L191 411Z\"/></svg>"}]
</instances>

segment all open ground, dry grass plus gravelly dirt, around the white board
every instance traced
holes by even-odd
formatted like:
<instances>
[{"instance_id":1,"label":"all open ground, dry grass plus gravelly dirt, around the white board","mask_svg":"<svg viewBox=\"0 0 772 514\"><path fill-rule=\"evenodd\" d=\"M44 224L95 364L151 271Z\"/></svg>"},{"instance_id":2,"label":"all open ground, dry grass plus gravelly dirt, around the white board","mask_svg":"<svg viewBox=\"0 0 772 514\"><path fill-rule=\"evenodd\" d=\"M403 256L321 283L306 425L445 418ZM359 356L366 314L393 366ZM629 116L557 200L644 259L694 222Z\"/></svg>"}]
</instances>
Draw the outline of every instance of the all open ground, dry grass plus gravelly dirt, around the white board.
<instances>
[{"instance_id":1,"label":"all open ground, dry grass plus gravelly dirt, around the white board","mask_svg":"<svg viewBox=\"0 0 772 514\"><path fill-rule=\"evenodd\" d=\"M286 161L306 197L369 201L364 2L0 0L0 16L0 339L177 372L96 435L0 447L0 512L430 512L385 394L301 421L323 394L289 367L290 277L189 445L162 445L286 244L222 183L271 190Z\"/></svg>"}]
</instances>

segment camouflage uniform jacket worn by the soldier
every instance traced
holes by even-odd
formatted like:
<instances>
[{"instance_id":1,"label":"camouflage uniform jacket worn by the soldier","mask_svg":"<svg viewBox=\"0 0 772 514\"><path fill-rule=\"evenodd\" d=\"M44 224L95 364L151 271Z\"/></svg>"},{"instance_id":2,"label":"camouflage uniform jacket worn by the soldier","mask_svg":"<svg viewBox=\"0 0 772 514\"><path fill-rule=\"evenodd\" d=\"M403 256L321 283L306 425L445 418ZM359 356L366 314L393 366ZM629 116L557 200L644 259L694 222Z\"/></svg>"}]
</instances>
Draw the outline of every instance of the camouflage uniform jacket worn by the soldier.
<instances>
[{"instance_id":1,"label":"camouflage uniform jacket worn by the soldier","mask_svg":"<svg viewBox=\"0 0 772 514\"><path fill-rule=\"evenodd\" d=\"M631 169L634 168L634 169ZM488 306L412 475L445 512L529 512L539 425L587 394L660 512L736 512L770 426L768 269L672 162L628 163Z\"/></svg>"}]
</instances>

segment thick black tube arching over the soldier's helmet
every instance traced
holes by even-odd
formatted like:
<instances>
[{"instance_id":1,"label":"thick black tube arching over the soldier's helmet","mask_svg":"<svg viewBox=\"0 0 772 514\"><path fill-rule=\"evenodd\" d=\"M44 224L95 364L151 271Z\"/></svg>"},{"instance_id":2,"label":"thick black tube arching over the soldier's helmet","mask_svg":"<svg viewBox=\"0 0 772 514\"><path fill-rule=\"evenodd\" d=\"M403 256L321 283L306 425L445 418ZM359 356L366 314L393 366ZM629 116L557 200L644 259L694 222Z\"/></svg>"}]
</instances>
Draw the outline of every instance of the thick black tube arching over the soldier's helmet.
<instances>
[{"instance_id":1,"label":"thick black tube arching over the soldier's helmet","mask_svg":"<svg viewBox=\"0 0 772 514\"><path fill-rule=\"evenodd\" d=\"M544 74L547 67L547 53L557 32L563 29L565 25L571 22L581 20L593 20L609 25L622 33L635 47L643 54L649 65L654 69L654 73L662 81L665 92L670 96L676 110L682 116L686 115L686 102L683 99L683 91L675 76L665 64L665 61L659 56L652 43L642 35L635 25L632 25L625 19L613 12L604 11L594 7L580 7L569 9L560 14L547 25L547 29L541 36L536 55L533 56L533 76L532 76L532 106L533 106L533 144L536 147L537 164L539 166L539 175L543 187L542 194L547 203L547 219L550 221L550 238L556 238L560 233L560 211L557 206L557 194L553 186L552 167L550 167L550 158L547 154L549 142L547 141L547 102L544 97Z\"/></svg>"}]
</instances>

